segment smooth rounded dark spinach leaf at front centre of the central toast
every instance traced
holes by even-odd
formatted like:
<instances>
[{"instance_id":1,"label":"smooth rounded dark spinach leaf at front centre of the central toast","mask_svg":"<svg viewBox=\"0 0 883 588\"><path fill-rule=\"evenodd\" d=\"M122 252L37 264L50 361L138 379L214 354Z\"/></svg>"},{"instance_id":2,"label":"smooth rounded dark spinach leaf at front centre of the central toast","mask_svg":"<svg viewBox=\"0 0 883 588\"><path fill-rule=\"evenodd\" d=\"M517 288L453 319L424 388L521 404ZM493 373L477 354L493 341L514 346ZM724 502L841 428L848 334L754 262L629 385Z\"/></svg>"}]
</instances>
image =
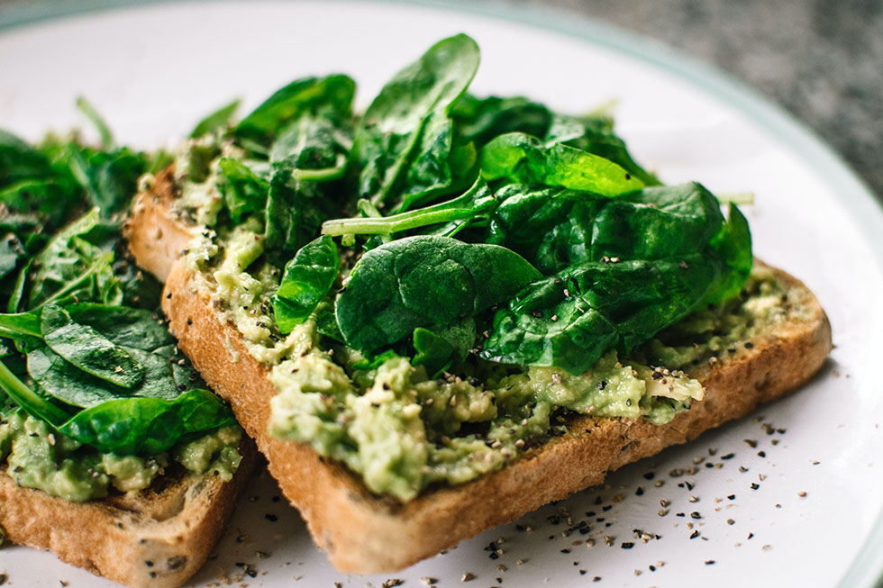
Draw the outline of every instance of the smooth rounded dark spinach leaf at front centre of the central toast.
<instances>
[{"instance_id":1,"label":"smooth rounded dark spinach leaf at front centre of the central toast","mask_svg":"<svg viewBox=\"0 0 883 588\"><path fill-rule=\"evenodd\" d=\"M337 296L347 344L365 353L505 301L539 273L509 249L420 236L371 249Z\"/></svg>"}]
</instances>

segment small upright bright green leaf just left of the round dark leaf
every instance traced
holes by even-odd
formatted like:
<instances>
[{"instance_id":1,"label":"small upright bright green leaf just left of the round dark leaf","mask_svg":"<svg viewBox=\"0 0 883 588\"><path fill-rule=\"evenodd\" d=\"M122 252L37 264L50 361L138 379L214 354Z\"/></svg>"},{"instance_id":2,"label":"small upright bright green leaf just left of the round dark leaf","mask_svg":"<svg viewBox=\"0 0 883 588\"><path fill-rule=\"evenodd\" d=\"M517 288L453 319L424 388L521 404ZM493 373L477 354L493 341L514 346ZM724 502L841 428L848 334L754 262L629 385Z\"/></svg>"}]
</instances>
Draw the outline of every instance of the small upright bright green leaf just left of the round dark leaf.
<instances>
[{"instance_id":1,"label":"small upright bright green leaf just left of the round dark leaf","mask_svg":"<svg viewBox=\"0 0 883 588\"><path fill-rule=\"evenodd\" d=\"M283 334L291 332L316 309L337 278L340 258L331 237L312 240L287 263L273 295L273 314Z\"/></svg>"}]
</instances>

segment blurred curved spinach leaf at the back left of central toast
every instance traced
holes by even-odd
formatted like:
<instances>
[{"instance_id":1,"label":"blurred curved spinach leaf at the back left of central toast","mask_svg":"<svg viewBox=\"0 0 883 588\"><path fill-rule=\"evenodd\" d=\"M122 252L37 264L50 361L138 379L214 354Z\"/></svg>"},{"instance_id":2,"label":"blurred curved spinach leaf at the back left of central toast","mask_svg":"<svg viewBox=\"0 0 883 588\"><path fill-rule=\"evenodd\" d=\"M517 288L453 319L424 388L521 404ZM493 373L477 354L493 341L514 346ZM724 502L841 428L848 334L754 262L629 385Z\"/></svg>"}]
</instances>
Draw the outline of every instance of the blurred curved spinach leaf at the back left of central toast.
<instances>
[{"instance_id":1,"label":"blurred curved spinach leaf at the back left of central toast","mask_svg":"<svg viewBox=\"0 0 883 588\"><path fill-rule=\"evenodd\" d=\"M234 134L259 144L268 144L279 129L302 113L331 107L341 116L349 116L355 82L348 76L304 77L279 89L246 116Z\"/></svg>"}]
</instances>

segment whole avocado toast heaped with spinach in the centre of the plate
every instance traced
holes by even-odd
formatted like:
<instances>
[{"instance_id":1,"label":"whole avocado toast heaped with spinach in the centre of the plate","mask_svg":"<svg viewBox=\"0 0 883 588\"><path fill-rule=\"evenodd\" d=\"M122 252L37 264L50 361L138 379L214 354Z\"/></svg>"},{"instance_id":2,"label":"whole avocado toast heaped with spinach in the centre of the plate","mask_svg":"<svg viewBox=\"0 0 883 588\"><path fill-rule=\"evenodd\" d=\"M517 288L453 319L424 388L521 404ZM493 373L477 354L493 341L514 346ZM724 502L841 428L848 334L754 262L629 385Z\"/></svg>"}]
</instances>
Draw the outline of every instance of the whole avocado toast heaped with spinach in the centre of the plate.
<instances>
[{"instance_id":1,"label":"whole avocado toast heaped with spinach in the centre of the plate","mask_svg":"<svg viewBox=\"0 0 883 588\"><path fill-rule=\"evenodd\" d=\"M341 571L393 571L796 390L831 330L737 204L605 112L479 98L439 41L354 113L206 117L125 233L179 347ZM724 215L722 205L727 209Z\"/></svg>"}]
</instances>

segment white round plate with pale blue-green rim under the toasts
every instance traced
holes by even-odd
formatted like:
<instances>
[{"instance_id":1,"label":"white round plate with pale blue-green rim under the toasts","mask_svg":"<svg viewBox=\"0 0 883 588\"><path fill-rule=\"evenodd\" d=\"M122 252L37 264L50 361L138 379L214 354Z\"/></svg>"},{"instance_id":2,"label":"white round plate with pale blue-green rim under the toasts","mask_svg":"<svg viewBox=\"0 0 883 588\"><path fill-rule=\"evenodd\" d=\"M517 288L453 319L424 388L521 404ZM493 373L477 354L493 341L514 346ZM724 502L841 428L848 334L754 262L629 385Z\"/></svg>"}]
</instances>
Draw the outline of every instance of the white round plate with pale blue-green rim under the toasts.
<instances>
[{"instance_id":1,"label":"white round plate with pale blue-green rim under the toasts","mask_svg":"<svg viewBox=\"0 0 883 588\"><path fill-rule=\"evenodd\" d=\"M0 23L7 26L0 35L0 126L34 140L81 125L73 103L86 95L121 141L142 148L174 142L234 96L250 107L307 74L350 73L364 105L433 41L468 32L482 48L478 94L530 95L574 113L614 98L633 153L666 181L753 191L756 253L804 279L833 324L836 348L804 390L625 467L603 488L525 516L518 525L532 531L505 525L398 574L340 574L313 547L296 511L273 502L278 489L263 475L197 583L219 574L250 585L379 586L401 578L419 586L429 576L451 586L469 572L476 579L467 585L510 587L870 585L879 577L883 215L831 151L751 91L650 41L511 7L195 3L22 20L7 14ZM743 439L756 439L757 448ZM695 474L669 475L694 466ZM670 501L666 516L658 514L660 500ZM566 516L556 524L562 511L572 525ZM701 518L691 518L694 511ZM587 535L565 536L582 520ZM645 544L633 529L653 538ZM490 559L485 547L497 538L505 538L496 546L503 553ZM99 584L23 547L0 551L0 572L16 585Z\"/></svg>"}]
</instances>

